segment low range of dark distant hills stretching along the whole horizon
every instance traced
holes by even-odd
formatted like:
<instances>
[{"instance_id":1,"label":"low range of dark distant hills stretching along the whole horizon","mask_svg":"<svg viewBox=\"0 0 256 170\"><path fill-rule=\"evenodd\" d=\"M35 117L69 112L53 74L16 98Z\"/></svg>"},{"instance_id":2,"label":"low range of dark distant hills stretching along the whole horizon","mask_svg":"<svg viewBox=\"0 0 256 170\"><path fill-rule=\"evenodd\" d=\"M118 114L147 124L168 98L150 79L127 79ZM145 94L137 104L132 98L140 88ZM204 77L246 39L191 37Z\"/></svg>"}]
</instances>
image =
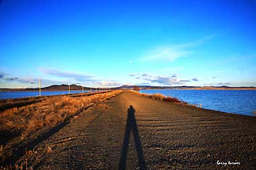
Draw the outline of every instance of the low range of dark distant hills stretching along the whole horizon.
<instances>
[{"instance_id":1,"label":"low range of dark distant hills stretching along the whole horizon","mask_svg":"<svg viewBox=\"0 0 256 170\"><path fill-rule=\"evenodd\" d=\"M108 89L133 89L133 87L139 87L139 89L194 89L194 90L256 90L256 87L229 87L226 85L222 86L150 86L150 85L121 85L120 87L111 87ZM98 88L98 87L97 87ZM42 91L67 91L68 85L50 85L49 87L42 87ZM84 90L90 90L90 87L84 87ZM94 89L94 88L92 88ZM81 85L70 85L70 90L82 90ZM0 88L0 91L38 91L37 88L24 88L24 89L11 89L11 88Z\"/></svg>"}]
</instances>

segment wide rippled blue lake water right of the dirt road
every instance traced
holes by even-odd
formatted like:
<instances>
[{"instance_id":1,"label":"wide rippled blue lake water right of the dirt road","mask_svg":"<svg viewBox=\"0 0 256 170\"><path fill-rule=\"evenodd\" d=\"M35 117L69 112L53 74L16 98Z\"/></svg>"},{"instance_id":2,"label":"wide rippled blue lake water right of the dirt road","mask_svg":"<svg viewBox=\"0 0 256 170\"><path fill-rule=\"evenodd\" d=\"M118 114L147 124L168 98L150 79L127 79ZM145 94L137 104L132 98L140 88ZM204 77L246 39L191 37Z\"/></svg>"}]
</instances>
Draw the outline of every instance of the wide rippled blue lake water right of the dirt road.
<instances>
[{"instance_id":1,"label":"wide rippled blue lake water right of the dirt road","mask_svg":"<svg viewBox=\"0 0 256 170\"><path fill-rule=\"evenodd\" d=\"M255 116L256 91L255 90L172 90L154 89L141 90L142 93L161 93L170 95L190 104L201 103L202 108L222 112Z\"/></svg>"}]
</instances>

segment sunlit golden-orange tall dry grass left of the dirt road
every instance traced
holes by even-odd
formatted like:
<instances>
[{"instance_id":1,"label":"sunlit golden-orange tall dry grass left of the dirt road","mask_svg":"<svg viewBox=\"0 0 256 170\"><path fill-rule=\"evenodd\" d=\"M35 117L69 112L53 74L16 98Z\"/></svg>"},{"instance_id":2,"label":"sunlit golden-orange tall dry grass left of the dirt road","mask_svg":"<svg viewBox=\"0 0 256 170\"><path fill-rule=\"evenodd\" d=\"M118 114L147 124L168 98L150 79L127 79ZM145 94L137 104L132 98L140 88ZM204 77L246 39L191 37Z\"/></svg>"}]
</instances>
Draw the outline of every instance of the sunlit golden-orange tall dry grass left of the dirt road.
<instances>
[{"instance_id":1,"label":"sunlit golden-orange tall dry grass left of the dirt road","mask_svg":"<svg viewBox=\"0 0 256 170\"><path fill-rule=\"evenodd\" d=\"M43 126L55 126L83 108L104 101L108 97L117 95L117 93L120 93L120 91L82 97L49 97L49 99L38 103L4 110L0 112L0 134L7 132L26 137L34 130Z\"/></svg>"}]
</instances>

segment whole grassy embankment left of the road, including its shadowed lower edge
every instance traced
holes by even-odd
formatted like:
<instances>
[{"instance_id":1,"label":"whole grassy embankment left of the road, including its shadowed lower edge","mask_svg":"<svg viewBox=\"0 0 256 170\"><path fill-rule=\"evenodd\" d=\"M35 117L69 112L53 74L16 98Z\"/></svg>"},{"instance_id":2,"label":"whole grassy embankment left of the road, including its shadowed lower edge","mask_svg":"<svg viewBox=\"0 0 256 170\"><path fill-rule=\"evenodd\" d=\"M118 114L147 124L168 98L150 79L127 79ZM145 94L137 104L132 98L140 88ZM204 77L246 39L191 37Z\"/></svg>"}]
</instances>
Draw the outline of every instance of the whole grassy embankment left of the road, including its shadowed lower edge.
<instances>
[{"instance_id":1,"label":"whole grassy embankment left of the road, including its shadowed lower edge","mask_svg":"<svg viewBox=\"0 0 256 170\"><path fill-rule=\"evenodd\" d=\"M32 148L35 140L40 136L42 138L42 134L75 118L75 115L91 105L119 93L121 93L120 90L89 95L72 94L2 100L0 104L0 167L18 161L17 157L27 153L26 148L29 146Z\"/></svg>"}]
</instances>

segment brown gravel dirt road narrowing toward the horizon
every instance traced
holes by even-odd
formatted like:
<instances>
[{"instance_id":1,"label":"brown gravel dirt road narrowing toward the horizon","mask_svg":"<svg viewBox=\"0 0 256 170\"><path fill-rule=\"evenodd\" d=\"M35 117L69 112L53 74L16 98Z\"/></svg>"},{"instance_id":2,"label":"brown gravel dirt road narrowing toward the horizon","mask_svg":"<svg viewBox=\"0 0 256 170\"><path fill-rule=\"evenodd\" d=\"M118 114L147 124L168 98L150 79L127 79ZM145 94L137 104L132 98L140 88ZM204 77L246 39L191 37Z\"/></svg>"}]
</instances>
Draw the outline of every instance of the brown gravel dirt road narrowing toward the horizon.
<instances>
[{"instance_id":1,"label":"brown gravel dirt road narrowing toward the horizon","mask_svg":"<svg viewBox=\"0 0 256 170\"><path fill-rule=\"evenodd\" d=\"M255 117L123 91L75 116L20 162L33 169L255 169L255 150Z\"/></svg>"}]
</instances>

